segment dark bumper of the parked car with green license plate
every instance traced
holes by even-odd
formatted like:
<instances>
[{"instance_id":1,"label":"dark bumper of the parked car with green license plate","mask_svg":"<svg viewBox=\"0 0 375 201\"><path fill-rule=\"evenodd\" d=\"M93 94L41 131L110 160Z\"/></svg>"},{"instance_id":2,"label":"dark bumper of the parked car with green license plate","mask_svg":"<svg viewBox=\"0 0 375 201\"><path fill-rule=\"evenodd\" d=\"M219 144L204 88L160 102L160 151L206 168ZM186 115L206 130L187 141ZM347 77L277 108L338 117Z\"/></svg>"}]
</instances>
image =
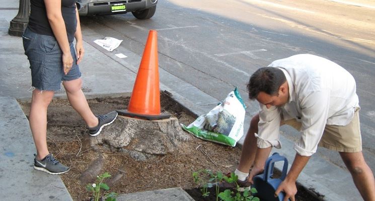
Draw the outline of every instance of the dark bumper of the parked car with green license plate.
<instances>
[{"instance_id":1,"label":"dark bumper of the parked car with green license plate","mask_svg":"<svg viewBox=\"0 0 375 201\"><path fill-rule=\"evenodd\" d=\"M103 1L81 0L77 2L80 16L113 15L145 10L156 6L158 0L127 0L127 1ZM125 10L114 10L114 7L125 5Z\"/></svg>"}]
</instances>

